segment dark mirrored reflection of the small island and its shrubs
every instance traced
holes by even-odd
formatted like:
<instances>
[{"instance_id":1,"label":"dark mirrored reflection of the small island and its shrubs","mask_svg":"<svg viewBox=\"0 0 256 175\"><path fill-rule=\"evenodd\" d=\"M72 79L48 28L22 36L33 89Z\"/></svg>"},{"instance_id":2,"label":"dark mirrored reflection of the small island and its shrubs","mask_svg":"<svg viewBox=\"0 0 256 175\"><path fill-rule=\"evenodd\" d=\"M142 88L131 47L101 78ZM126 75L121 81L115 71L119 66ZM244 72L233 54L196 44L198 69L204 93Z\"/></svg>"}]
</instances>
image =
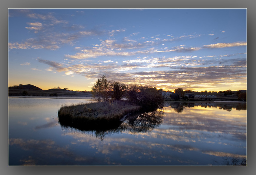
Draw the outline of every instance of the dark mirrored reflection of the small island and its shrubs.
<instances>
[{"instance_id":1,"label":"dark mirrored reflection of the small island and its shrubs","mask_svg":"<svg viewBox=\"0 0 256 175\"><path fill-rule=\"evenodd\" d=\"M113 135L125 131L129 131L131 133L138 133L138 132L150 132L155 127L161 125L163 121L163 113L162 110L155 110L153 112L144 112L141 114L129 116L124 121L121 121L116 126L111 127L104 127L104 129L92 129L88 127L81 127L81 124L78 127L75 124L67 124L59 121L61 128L64 132L69 133L73 132L74 134L85 134L96 136L103 140L108 135Z\"/></svg>"}]
</instances>

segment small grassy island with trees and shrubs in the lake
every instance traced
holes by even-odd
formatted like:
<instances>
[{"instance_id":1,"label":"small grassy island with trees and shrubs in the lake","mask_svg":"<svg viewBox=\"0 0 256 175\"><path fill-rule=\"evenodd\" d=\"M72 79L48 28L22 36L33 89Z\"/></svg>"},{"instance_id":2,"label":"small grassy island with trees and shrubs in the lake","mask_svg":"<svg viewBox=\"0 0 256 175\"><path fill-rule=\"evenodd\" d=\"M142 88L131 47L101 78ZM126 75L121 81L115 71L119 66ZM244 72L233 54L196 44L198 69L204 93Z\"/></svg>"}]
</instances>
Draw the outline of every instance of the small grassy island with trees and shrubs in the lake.
<instances>
[{"instance_id":1,"label":"small grassy island with trees and shrubs in the lake","mask_svg":"<svg viewBox=\"0 0 256 175\"><path fill-rule=\"evenodd\" d=\"M100 77L92 87L94 103L62 106L58 111L59 121L76 126L104 127L120 124L126 116L141 111L156 110L163 98L156 87L125 85Z\"/></svg>"}]
</instances>

